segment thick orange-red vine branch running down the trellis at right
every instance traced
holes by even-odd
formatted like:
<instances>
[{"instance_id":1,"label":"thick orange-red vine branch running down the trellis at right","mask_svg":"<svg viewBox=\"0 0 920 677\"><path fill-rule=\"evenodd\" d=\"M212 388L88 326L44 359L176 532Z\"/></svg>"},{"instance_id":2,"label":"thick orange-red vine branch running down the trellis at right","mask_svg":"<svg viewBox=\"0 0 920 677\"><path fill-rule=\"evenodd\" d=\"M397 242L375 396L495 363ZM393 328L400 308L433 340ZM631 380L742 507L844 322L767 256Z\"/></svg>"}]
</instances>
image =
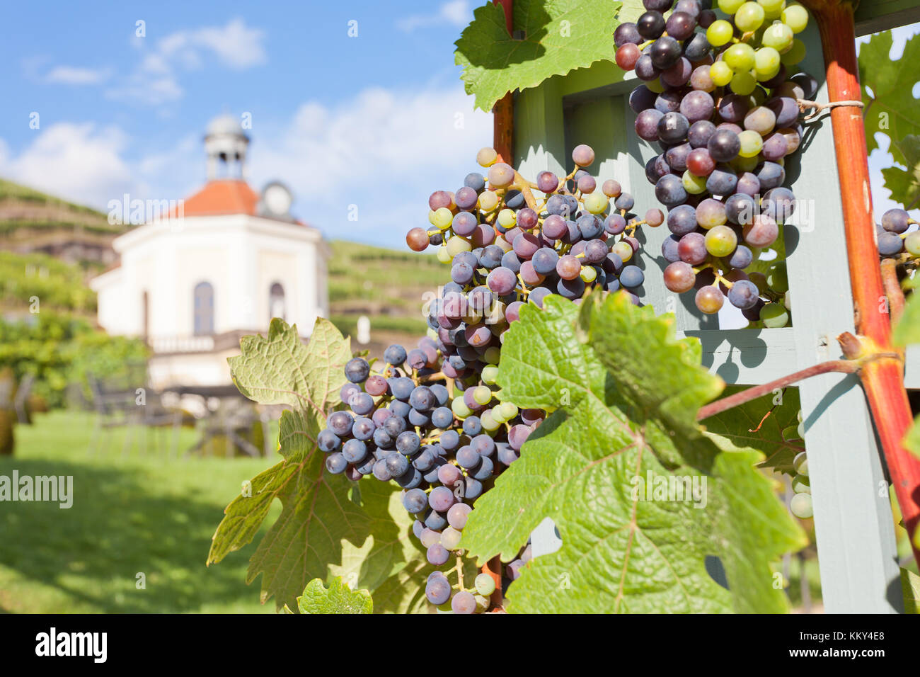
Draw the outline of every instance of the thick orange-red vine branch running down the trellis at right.
<instances>
[{"instance_id":1,"label":"thick orange-red vine branch running down the trellis at right","mask_svg":"<svg viewBox=\"0 0 920 677\"><path fill-rule=\"evenodd\" d=\"M827 67L828 98L861 99L859 88L854 7L847 0L806 0L821 32L824 64ZM837 173L843 198L846 251L850 285L857 310L857 333L873 352L891 349L891 321L880 312L884 298L879 250L875 241L872 195L869 189L866 133L858 111L838 107L831 110ZM914 559L920 563L920 548L914 538L920 520L920 460L904 449L903 438L912 421L903 363L880 359L859 372L869 409L879 434L891 481L910 534Z\"/></svg>"}]
</instances>

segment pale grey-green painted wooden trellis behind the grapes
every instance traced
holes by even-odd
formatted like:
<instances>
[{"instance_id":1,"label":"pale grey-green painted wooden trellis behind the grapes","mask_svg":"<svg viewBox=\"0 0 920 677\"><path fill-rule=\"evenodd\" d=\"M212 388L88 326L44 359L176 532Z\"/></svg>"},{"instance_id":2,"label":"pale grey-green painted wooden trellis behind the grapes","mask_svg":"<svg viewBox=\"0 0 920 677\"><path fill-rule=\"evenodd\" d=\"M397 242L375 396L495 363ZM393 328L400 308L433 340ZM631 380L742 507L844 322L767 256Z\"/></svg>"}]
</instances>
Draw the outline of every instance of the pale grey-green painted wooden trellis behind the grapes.
<instances>
[{"instance_id":1,"label":"pale grey-green painted wooden trellis behind the grapes","mask_svg":"<svg viewBox=\"0 0 920 677\"><path fill-rule=\"evenodd\" d=\"M864 2L857 11L857 33L918 20L916 0ZM821 84L815 99L826 102L821 41L813 22L799 37L808 46L801 67ZM638 81L629 75L624 79L614 64L599 62L518 93L513 104L512 159L523 175L534 177L543 169L565 174L572 148L588 144L596 156L592 174L620 181L624 191L636 198L639 214L659 206L645 177L645 163L657 153L633 131L635 113L629 109L628 95ZM498 140L507 130L501 123L496 127ZM670 231L646 227L638 236L644 251L636 263L647 269L639 298L660 312L673 311L682 333L701 341L704 364L728 383L761 384L839 358L835 337L855 332L829 115L806 125L799 154L787 158L786 169L786 185L804 201L784 228L790 327L719 330L716 316L696 310L692 294L675 295L663 284L661 270L666 262L661 242ZM920 350L908 352L905 383L908 389L920 389ZM841 374L815 377L799 384L799 396L825 611L901 612L888 484L859 379ZM534 531L532 543L535 555L558 549L560 542L548 519Z\"/></svg>"}]
</instances>

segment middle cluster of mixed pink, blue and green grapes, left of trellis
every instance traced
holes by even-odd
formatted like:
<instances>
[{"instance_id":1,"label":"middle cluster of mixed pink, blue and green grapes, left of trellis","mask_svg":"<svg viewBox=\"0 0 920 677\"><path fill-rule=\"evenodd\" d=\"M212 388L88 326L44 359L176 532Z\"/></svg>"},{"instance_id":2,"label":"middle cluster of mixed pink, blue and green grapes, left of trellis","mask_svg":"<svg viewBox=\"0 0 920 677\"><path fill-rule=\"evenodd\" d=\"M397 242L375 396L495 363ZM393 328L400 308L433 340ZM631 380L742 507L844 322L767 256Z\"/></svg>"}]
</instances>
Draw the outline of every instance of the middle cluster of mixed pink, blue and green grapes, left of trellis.
<instances>
[{"instance_id":1,"label":"middle cluster of mixed pink, blue and green grapes, left of trellis","mask_svg":"<svg viewBox=\"0 0 920 677\"><path fill-rule=\"evenodd\" d=\"M592 287L628 290L645 281L630 263L639 249L636 229L660 226L661 210L639 220L619 182L599 186L584 169L594 161L590 146L576 146L572 160L568 176L546 170L531 183L483 148L477 162L487 176L472 172L456 192L432 193L434 228L409 230L412 250L438 246L438 259L451 266L451 282L429 313L429 326L449 349L448 376L477 359L470 349L498 349L523 303L542 308L550 294L577 301Z\"/></svg>"}]
</instances>

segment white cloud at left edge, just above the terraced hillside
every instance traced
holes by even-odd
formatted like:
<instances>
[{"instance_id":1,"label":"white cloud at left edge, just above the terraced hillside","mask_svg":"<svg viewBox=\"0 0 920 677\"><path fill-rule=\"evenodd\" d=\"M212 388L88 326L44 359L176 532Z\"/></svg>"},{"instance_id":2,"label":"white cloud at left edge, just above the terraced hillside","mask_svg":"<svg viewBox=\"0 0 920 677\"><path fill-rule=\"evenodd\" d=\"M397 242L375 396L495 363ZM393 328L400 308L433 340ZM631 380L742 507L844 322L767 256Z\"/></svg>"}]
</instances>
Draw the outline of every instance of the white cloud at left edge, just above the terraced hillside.
<instances>
[{"instance_id":1,"label":"white cloud at left edge, just above the terraced hillside","mask_svg":"<svg viewBox=\"0 0 920 677\"><path fill-rule=\"evenodd\" d=\"M0 153L0 174L97 207L132 188L131 171L121 158L126 137L117 127L54 123L37 134L17 156Z\"/></svg>"}]
</instances>

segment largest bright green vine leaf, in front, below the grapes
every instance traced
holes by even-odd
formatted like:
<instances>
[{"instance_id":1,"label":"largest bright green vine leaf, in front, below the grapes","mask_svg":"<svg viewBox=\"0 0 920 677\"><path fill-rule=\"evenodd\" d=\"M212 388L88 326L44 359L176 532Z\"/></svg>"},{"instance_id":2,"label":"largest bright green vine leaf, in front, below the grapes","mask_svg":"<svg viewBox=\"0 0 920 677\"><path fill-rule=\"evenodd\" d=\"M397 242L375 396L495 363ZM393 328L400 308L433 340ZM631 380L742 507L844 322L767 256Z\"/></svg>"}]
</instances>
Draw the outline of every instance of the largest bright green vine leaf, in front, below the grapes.
<instances>
[{"instance_id":1,"label":"largest bright green vine leaf, in front, below the grapes","mask_svg":"<svg viewBox=\"0 0 920 677\"><path fill-rule=\"evenodd\" d=\"M786 610L770 563L807 542L755 469L763 455L696 424L723 388L701 352L674 340L673 316L622 294L522 309L498 383L519 407L556 411L477 499L461 542L480 563L508 560L542 519L556 522L562 547L523 567L509 611ZM707 574L707 555L730 591Z\"/></svg>"}]
</instances>

